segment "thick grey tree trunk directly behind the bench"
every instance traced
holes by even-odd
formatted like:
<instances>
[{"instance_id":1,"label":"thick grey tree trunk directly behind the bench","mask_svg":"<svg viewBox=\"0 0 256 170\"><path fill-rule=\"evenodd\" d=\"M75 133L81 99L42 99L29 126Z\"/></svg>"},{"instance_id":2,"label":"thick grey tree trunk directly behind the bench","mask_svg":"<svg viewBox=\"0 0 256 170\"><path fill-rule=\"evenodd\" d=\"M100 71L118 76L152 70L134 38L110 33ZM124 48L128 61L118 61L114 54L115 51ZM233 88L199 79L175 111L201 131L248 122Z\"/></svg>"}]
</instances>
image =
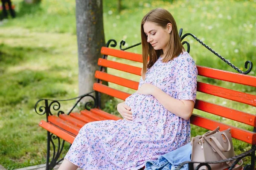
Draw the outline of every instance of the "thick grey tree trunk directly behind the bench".
<instances>
[{"instance_id":1,"label":"thick grey tree trunk directly behind the bench","mask_svg":"<svg viewBox=\"0 0 256 170\"><path fill-rule=\"evenodd\" d=\"M76 0L79 95L93 91L95 71L102 46L105 46L102 0ZM102 101L105 97L102 96ZM91 98L85 98L87 102Z\"/></svg>"}]
</instances>

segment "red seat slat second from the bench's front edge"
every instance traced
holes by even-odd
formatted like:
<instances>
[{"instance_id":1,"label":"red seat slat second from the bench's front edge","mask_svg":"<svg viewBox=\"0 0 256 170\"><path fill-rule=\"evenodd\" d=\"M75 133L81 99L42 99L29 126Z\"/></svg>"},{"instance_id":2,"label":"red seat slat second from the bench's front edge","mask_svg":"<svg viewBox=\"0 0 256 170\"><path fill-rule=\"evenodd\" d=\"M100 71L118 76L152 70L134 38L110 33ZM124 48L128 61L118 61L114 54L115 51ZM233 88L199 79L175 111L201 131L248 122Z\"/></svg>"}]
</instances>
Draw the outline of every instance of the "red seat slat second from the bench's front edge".
<instances>
[{"instance_id":1,"label":"red seat slat second from the bench's front edge","mask_svg":"<svg viewBox=\"0 0 256 170\"><path fill-rule=\"evenodd\" d=\"M57 116L48 116L48 121L52 124L60 127L61 129L67 130L68 132L77 135L79 133L80 128L67 122Z\"/></svg>"}]
</instances>

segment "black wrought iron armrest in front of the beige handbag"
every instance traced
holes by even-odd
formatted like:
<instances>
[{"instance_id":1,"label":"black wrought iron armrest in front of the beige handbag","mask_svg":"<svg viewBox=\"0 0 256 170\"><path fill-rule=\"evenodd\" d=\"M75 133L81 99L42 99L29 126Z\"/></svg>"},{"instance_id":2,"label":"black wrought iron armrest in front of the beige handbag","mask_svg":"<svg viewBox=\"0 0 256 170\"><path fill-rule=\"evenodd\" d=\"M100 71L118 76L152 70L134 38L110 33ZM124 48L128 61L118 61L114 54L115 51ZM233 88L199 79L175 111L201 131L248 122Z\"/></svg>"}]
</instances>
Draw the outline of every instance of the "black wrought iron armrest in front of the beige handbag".
<instances>
[{"instance_id":1,"label":"black wrought iron armrest in front of the beige handbag","mask_svg":"<svg viewBox=\"0 0 256 170\"><path fill-rule=\"evenodd\" d=\"M218 164L218 163L223 163L223 162L227 162L227 161L233 161L233 160L236 160L234 161L234 163L232 164L232 166L229 168L229 170L232 170L236 164L244 157L246 156L252 156L252 153L254 153L256 150L256 147L254 146L252 149L250 150L247 150L246 152L244 153L241 153L239 155L236 155L236 156L233 156L232 158L229 158L229 159L223 159L223 160L220 160L220 161L206 161L206 162L197 162L197 161L185 161L185 162L182 162L181 164L179 164L175 170L180 170L181 167L183 167L183 165L185 164L189 164L189 170L193 170L194 167L193 167L193 164L194 163L199 163L199 165L195 168L195 170L199 170L200 167L202 166L207 166L208 170L211 170L211 167L209 166L209 164ZM255 153L254 153L255 154ZM250 170L252 169L251 165L246 165L244 167L244 170Z\"/></svg>"}]
</instances>

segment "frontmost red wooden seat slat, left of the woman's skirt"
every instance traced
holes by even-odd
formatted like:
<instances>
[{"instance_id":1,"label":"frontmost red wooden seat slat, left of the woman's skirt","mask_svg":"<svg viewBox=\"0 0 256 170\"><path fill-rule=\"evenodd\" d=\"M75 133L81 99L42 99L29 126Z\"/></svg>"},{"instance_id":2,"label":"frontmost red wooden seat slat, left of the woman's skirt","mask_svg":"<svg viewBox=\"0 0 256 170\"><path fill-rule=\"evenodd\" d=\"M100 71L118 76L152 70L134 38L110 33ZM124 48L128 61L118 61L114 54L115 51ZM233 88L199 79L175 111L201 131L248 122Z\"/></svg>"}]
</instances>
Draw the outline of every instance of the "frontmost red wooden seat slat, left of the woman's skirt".
<instances>
[{"instance_id":1,"label":"frontmost red wooden seat slat, left of the woman's skirt","mask_svg":"<svg viewBox=\"0 0 256 170\"><path fill-rule=\"evenodd\" d=\"M73 143L75 136L71 135L70 133L65 132L64 130L60 129L59 127L56 127L55 125L45 122L44 120L41 120L39 123L39 126L43 127L50 133L55 134L56 136L60 137L61 139L64 139L65 141L69 142L70 144Z\"/></svg>"}]
</instances>

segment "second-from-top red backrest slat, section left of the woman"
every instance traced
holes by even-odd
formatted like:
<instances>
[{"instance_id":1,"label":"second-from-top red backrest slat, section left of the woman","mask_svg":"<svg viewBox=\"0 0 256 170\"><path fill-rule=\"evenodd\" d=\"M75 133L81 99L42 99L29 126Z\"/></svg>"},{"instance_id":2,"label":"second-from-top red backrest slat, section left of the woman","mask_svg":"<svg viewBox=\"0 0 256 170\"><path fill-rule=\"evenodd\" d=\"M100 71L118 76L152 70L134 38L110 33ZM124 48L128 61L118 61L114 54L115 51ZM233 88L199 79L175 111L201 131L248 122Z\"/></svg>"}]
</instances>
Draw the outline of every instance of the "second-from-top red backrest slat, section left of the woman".
<instances>
[{"instance_id":1,"label":"second-from-top red backrest slat, section left of the woman","mask_svg":"<svg viewBox=\"0 0 256 170\"><path fill-rule=\"evenodd\" d=\"M141 68L135 67L128 64L123 64L120 62L111 61L108 59L99 59L98 65L108 68L113 68L120 71L125 71L127 73L136 74L138 76L141 76Z\"/></svg>"}]
</instances>

